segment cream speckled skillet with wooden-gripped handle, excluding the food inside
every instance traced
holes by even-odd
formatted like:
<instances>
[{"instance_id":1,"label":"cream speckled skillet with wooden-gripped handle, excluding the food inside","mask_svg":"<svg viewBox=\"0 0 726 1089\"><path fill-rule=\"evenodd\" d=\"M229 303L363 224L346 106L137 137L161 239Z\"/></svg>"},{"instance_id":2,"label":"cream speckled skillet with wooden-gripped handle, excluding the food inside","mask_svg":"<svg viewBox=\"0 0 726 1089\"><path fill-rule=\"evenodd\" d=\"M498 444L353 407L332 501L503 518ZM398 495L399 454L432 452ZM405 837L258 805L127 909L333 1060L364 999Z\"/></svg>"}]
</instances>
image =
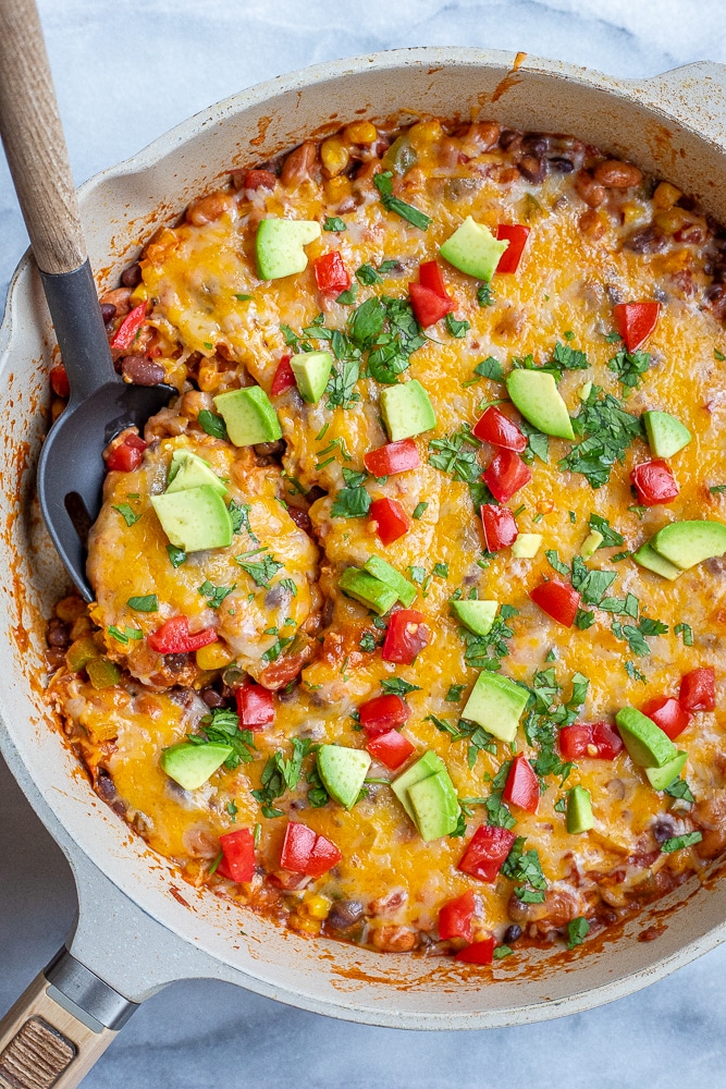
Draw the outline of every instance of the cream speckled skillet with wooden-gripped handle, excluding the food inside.
<instances>
[{"instance_id":1,"label":"cream speckled skillet with wooden-gripped handle, excluding the food inside","mask_svg":"<svg viewBox=\"0 0 726 1089\"><path fill-rule=\"evenodd\" d=\"M356 118L419 114L583 137L669 179L726 221L726 69L703 62L637 82L522 54L397 50L243 91L87 182L79 203L99 286L115 285L144 237L231 168ZM611 1001L723 941L726 882L714 874L600 942L517 955L482 983L481 971L440 958L311 941L185 884L96 797L44 699L44 621L66 588L34 501L52 347L26 255L0 328L0 748L73 868L79 913L67 951L0 1023L0 1086L76 1086L134 1004L176 979L214 977L389 1027L487 1028ZM657 939L638 941L648 927Z\"/></svg>"}]
</instances>

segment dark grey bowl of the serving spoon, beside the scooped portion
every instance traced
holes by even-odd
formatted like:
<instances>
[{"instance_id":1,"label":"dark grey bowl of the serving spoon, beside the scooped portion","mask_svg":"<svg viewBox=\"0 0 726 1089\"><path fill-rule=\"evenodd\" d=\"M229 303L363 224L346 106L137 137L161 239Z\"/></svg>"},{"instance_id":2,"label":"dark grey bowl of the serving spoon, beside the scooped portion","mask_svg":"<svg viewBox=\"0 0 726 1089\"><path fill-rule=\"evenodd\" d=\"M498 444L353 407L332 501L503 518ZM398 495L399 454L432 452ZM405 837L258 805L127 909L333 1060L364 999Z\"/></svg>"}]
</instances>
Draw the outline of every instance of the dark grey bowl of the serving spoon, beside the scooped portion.
<instances>
[{"instance_id":1,"label":"dark grey bowl of the serving spoon, beside the scooped portion","mask_svg":"<svg viewBox=\"0 0 726 1089\"><path fill-rule=\"evenodd\" d=\"M90 397L73 400L51 428L38 464L40 510L65 568L86 601L86 538L101 509L102 453L125 427L144 428L177 391L171 386L111 381Z\"/></svg>"}]
</instances>

